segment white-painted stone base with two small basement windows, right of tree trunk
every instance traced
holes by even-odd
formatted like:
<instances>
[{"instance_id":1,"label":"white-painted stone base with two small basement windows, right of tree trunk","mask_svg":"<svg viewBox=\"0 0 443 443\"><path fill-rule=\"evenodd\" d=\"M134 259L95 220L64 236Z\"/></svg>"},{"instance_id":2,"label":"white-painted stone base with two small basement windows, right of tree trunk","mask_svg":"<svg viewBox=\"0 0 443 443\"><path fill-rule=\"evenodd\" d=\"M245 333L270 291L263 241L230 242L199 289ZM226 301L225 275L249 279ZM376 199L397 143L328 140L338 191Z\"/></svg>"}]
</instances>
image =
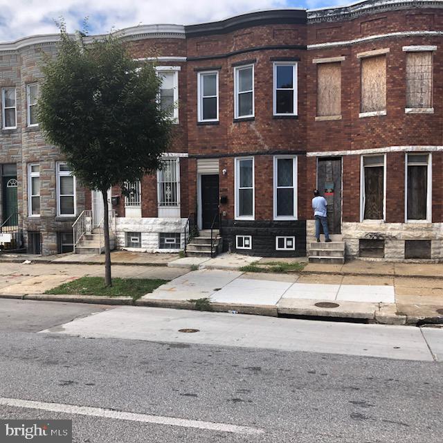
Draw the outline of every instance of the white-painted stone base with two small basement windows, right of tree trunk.
<instances>
[{"instance_id":1,"label":"white-painted stone base with two small basement windows, right of tree trunk","mask_svg":"<svg viewBox=\"0 0 443 443\"><path fill-rule=\"evenodd\" d=\"M188 219L157 218L157 217L117 217L116 218L116 247L126 251L174 253L185 247L185 226ZM126 233L141 233L141 248L127 248ZM180 249L160 249L160 233L181 233Z\"/></svg>"}]
</instances>

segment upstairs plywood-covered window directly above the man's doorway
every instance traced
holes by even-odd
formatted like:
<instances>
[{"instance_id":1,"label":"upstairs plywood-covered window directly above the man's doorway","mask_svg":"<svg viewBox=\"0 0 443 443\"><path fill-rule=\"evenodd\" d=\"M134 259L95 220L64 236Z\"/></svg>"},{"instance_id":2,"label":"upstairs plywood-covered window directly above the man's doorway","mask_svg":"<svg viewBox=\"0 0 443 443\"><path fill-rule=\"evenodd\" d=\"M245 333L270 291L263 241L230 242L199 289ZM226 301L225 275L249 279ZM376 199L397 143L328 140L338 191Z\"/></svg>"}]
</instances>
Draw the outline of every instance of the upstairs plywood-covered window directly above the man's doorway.
<instances>
[{"instance_id":1,"label":"upstairs plywood-covered window directly above the man's doorway","mask_svg":"<svg viewBox=\"0 0 443 443\"><path fill-rule=\"evenodd\" d=\"M341 115L341 63L317 65L317 116Z\"/></svg>"}]
</instances>

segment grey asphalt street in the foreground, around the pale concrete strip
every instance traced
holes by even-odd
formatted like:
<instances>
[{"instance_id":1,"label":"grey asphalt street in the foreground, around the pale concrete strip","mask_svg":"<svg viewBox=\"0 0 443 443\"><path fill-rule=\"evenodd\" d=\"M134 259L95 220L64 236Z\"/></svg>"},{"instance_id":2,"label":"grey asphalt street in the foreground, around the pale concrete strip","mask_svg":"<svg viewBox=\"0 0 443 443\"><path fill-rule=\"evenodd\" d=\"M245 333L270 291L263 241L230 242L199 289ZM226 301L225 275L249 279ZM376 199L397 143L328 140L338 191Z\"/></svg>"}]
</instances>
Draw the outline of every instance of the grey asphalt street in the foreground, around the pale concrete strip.
<instances>
[{"instance_id":1,"label":"grey asphalt street in the foreground, around the pale concrete strip","mask_svg":"<svg viewBox=\"0 0 443 443\"><path fill-rule=\"evenodd\" d=\"M0 300L1 417L70 418L83 443L442 442L438 361L150 341L134 327L125 338L79 332L86 320L106 327L113 310ZM373 326L358 326L370 342Z\"/></svg>"}]
</instances>

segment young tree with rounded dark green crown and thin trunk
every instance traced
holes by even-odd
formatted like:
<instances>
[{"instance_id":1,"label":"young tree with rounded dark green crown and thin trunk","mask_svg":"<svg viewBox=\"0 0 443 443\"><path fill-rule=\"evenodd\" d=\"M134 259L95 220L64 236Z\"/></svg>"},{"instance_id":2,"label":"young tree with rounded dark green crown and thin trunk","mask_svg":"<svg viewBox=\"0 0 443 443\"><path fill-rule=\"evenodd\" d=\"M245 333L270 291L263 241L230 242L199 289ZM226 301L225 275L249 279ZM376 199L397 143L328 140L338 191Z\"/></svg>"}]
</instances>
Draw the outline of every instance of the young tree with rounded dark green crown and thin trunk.
<instances>
[{"instance_id":1,"label":"young tree with rounded dark green crown and thin trunk","mask_svg":"<svg viewBox=\"0 0 443 443\"><path fill-rule=\"evenodd\" d=\"M55 57L42 66L39 123L80 183L102 194L105 284L110 286L107 191L161 168L172 121L159 107L161 79L153 64L133 60L121 38L91 39L82 33L74 38L64 24L60 31Z\"/></svg>"}]
</instances>

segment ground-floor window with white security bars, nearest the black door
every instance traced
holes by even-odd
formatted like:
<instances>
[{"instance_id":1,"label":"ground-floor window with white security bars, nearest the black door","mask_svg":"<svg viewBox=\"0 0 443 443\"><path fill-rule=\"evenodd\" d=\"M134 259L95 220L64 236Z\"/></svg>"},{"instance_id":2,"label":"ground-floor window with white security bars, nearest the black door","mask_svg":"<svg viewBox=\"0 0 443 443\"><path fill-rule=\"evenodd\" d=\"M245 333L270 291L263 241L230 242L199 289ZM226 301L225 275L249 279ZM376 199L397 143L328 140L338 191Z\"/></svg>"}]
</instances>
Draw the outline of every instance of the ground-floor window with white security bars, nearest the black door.
<instances>
[{"instance_id":1,"label":"ground-floor window with white security bars, nearest the black door","mask_svg":"<svg viewBox=\"0 0 443 443\"><path fill-rule=\"evenodd\" d=\"M180 206L179 159L164 159L157 174L159 206Z\"/></svg>"}]
</instances>

